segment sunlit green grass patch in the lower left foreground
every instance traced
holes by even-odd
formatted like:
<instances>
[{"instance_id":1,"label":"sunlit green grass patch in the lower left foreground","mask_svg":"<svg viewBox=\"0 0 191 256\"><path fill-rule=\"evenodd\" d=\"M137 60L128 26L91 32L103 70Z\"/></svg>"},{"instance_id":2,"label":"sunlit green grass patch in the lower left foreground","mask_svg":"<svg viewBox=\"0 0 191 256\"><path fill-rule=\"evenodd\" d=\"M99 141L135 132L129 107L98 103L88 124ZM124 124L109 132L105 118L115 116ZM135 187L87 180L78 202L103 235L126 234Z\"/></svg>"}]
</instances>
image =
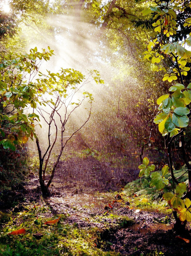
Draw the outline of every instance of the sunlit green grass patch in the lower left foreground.
<instances>
[{"instance_id":1,"label":"sunlit green grass patch in the lower left foreground","mask_svg":"<svg viewBox=\"0 0 191 256\"><path fill-rule=\"evenodd\" d=\"M66 223L66 215L59 215L57 224L46 225L46 221L58 216L51 216L51 209L46 205L24 205L24 210L3 217L3 229L0 236L0 255L37 256L37 255L101 255L116 256L116 252L107 252L107 245L102 241L102 230L97 227L78 228L74 223ZM9 235L18 229L25 229L25 234ZM40 232L43 237L36 239Z\"/></svg>"}]
</instances>

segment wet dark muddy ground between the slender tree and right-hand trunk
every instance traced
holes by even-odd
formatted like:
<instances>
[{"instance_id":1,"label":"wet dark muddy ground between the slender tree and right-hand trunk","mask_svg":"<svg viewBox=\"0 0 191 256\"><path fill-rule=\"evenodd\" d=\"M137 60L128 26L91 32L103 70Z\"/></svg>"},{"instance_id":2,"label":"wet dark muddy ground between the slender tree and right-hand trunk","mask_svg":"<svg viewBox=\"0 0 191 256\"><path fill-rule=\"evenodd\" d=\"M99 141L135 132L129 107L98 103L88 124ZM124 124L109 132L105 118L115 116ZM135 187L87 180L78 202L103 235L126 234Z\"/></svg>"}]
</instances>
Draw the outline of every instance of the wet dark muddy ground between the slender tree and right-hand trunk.
<instances>
[{"instance_id":1,"label":"wet dark muddy ground between the slender tree and right-hand trunk","mask_svg":"<svg viewBox=\"0 0 191 256\"><path fill-rule=\"evenodd\" d=\"M28 182L4 194L6 200L0 201L0 208L18 212L22 210L23 201L49 205L51 215L66 214L67 223L76 223L79 228L87 230L100 228L101 238L108 245L105 250L113 250L116 255L118 252L121 255L155 255L156 251L166 256L191 255L191 243L186 243L173 232L171 216L137 211L129 208L128 202L115 202L113 208L105 208L115 200L111 190L116 191L135 179L137 171L131 170L131 174L128 170L100 164L93 157L78 159L77 162L70 159L59 165L49 197L42 197L38 177L31 172ZM115 219L110 218L110 214L128 216L134 224L116 229ZM181 234L181 237L190 239L190 232Z\"/></svg>"}]
</instances>

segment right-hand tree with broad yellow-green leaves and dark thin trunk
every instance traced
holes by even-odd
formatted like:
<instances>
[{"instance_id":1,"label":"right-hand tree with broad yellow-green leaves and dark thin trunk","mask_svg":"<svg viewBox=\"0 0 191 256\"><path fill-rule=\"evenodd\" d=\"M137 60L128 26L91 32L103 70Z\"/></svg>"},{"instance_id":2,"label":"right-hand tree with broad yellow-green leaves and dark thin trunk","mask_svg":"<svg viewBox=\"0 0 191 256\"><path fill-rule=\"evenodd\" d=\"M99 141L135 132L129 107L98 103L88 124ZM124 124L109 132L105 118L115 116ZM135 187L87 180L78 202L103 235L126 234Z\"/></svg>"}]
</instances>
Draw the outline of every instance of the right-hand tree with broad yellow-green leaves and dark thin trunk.
<instances>
[{"instance_id":1,"label":"right-hand tree with broad yellow-green leaves and dark thin trunk","mask_svg":"<svg viewBox=\"0 0 191 256\"><path fill-rule=\"evenodd\" d=\"M163 198L173 208L177 228L181 222L191 221L191 165L189 154L185 148L186 128L190 119L191 83L190 63L191 51L191 4L189 1L140 1L147 2L148 7L142 11L147 19L138 20L136 25L148 24L156 32L155 38L150 40L148 50L144 52L145 59L155 65L155 70L165 72L163 81L169 83L177 80L178 83L169 85L169 93L162 95L158 100L159 105L154 122L162 136L166 139L171 177L173 179L173 193L165 193ZM152 3L152 6L150 4ZM179 183L174 175L171 146L179 137L182 158L188 168L188 187ZM148 159L139 166L140 176L148 176L155 168L148 166ZM165 175L168 167L162 170L162 176L154 172L151 175L151 185L162 189L168 184ZM175 187L176 184L176 187ZM177 216L179 213L179 217ZM185 226L185 225L184 225Z\"/></svg>"}]
</instances>

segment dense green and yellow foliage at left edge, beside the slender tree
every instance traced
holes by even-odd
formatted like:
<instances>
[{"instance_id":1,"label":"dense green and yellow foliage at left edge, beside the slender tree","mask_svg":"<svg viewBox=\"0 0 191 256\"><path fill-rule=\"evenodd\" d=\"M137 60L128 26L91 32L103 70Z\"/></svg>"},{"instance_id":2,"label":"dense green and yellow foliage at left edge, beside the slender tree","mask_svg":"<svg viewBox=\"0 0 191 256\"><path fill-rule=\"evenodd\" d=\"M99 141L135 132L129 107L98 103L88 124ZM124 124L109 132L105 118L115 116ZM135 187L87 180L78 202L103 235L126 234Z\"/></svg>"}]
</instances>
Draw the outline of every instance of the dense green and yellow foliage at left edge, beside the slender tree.
<instances>
[{"instance_id":1,"label":"dense green and yellow foliage at left edge, beside the slender tree","mask_svg":"<svg viewBox=\"0 0 191 256\"><path fill-rule=\"evenodd\" d=\"M4 149L16 150L16 144L27 143L36 137L34 121L40 121L34 113L24 113L24 108L36 108L39 97L47 90L38 79L32 79L38 72L38 65L53 55L53 50L38 52L30 49L30 54L0 56L0 141ZM7 132L8 130L8 132Z\"/></svg>"}]
</instances>

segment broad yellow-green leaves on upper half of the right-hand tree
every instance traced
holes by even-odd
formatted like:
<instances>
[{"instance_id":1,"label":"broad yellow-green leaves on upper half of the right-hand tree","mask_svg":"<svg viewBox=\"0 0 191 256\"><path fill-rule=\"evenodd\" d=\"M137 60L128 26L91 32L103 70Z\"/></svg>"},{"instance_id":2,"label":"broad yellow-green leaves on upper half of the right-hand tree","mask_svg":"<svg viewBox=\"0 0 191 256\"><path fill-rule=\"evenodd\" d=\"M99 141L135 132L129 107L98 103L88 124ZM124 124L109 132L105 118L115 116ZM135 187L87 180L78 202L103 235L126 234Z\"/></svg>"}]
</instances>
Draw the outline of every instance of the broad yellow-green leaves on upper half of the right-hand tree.
<instances>
[{"instance_id":1,"label":"broad yellow-green leaves on upper half of the right-hand tree","mask_svg":"<svg viewBox=\"0 0 191 256\"><path fill-rule=\"evenodd\" d=\"M155 117L154 122L159 125L159 131L163 136L170 133L172 137L178 134L179 128L188 126L190 111L187 106L191 102L191 84L187 83L186 76L188 75L189 81L191 51L185 48L185 43L187 35L191 36L191 31L186 19L187 9L190 9L187 1L184 3L176 1L176 4L172 4L172 1L162 4L159 1L155 6L142 11L144 16L148 16L153 21L152 26L157 32L157 37L148 44L144 58L152 63L162 63L155 70L168 72L164 75L163 81L172 82L177 79L181 81L181 84L177 83L169 88L169 94L157 100L161 113ZM179 20L179 15L184 18ZM183 27L181 31L179 26ZM182 41L176 37L177 33Z\"/></svg>"}]
</instances>

